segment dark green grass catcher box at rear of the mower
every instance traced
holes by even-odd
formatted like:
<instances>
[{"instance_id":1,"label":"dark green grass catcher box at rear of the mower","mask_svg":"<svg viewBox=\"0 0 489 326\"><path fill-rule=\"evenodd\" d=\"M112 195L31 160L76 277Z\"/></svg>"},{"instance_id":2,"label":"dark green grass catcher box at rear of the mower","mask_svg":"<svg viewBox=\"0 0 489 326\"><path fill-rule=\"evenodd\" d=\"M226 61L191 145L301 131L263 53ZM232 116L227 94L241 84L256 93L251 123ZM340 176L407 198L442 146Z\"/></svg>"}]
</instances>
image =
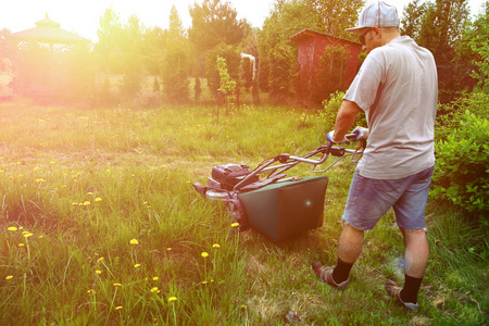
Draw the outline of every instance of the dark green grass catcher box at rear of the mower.
<instances>
[{"instance_id":1,"label":"dark green grass catcher box at rear of the mower","mask_svg":"<svg viewBox=\"0 0 489 326\"><path fill-rule=\"evenodd\" d=\"M251 227L275 242L323 225L328 178L306 177L239 193Z\"/></svg>"}]
</instances>

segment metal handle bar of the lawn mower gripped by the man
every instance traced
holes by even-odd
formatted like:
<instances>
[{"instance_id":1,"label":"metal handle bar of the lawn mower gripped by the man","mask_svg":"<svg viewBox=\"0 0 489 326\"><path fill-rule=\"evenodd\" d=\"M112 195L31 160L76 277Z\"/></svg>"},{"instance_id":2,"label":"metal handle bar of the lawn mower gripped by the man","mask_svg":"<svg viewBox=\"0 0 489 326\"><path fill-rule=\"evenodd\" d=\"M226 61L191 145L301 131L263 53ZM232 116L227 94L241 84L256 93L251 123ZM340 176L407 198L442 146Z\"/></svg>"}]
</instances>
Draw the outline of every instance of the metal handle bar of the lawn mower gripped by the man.
<instances>
[{"instance_id":1,"label":"metal handle bar of the lawn mower gripped by the man","mask_svg":"<svg viewBox=\"0 0 489 326\"><path fill-rule=\"evenodd\" d=\"M356 136L359 136L358 134L348 134L346 135L346 138L351 140L354 139ZM360 140L362 142L361 145L361 150L356 149L356 150L352 150L352 149L348 149L348 148L342 148L338 145L337 148L333 147L334 142L328 140L328 142L325 146L321 146L317 149L315 149L314 151L312 151L311 153L304 155L304 156L296 156L296 155L289 155L289 154L278 154L275 158L268 160L266 163L264 163L263 165L256 167L255 170L253 170L249 175L247 175L246 178L243 178L240 183L238 183L233 190L237 191L241 185L243 185L246 183L246 180L259 173L264 173L267 171L274 171L272 172L272 174L268 176L273 176L273 175L279 175L280 173L296 166L299 163L309 163L309 164L313 164L314 168L313 172L316 173L321 173L321 172L326 172L328 171L333 165L335 165L336 162L338 162L339 160L341 160L342 158L347 156L347 155L362 155L363 151L365 150L366 147L366 141L365 140ZM323 156L318 160L312 160L309 159L311 156L314 156L318 153L323 153ZM315 171L315 166L318 164L323 164L324 162L326 162L326 160L328 159L329 154L333 154L335 156L338 156L338 159L330 164L326 170L323 171ZM289 161L290 160L290 161ZM279 165L274 165L271 166L272 164L274 164L275 162L280 162L281 164Z\"/></svg>"}]
</instances>

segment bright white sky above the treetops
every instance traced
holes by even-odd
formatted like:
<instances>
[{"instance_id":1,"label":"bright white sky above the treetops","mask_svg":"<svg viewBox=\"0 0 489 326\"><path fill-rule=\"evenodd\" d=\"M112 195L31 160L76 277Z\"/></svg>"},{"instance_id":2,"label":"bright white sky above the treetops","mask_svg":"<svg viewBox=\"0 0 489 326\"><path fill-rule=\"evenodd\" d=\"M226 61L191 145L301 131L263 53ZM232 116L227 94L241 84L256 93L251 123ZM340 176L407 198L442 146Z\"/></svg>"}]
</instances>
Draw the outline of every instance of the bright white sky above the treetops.
<instances>
[{"instance_id":1,"label":"bright white sky above the treetops","mask_svg":"<svg viewBox=\"0 0 489 326\"><path fill-rule=\"evenodd\" d=\"M238 12L238 18L246 18L253 27L262 27L269 15L275 0L228 0ZM412 0L386 0L398 8L402 15L403 8ZM486 0L469 0L471 14L480 11ZM172 5L178 11L184 27L191 25L189 7L196 0L4 0L0 4L0 29L8 28L12 33L35 27L35 23L49 18L61 24L61 28L78 34L96 42L97 29L103 12L112 8L126 23L133 14L139 17L145 27L168 27ZM197 0L201 3L202 0ZM367 0L367 3L374 2Z\"/></svg>"}]
</instances>

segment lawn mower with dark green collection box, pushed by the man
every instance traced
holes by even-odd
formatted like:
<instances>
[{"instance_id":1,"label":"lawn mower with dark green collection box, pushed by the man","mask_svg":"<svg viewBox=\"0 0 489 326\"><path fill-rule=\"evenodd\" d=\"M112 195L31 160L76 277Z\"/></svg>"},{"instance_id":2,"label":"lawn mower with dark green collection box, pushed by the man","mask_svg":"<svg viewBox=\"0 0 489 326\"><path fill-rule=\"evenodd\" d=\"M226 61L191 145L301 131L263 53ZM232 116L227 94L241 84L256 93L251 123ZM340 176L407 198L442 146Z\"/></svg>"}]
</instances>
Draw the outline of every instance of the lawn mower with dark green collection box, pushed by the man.
<instances>
[{"instance_id":1,"label":"lawn mower with dark green collection box, pushed by the man","mask_svg":"<svg viewBox=\"0 0 489 326\"><path fill-rule=\"evenodd\" d=\"M356 136L349 134L347 139L352 140ZM334 146L328 141L304 156L283 153L266 159L252 171L246 164L221 164L212 167L206 186L192 186L204 198L224 202L240 230L251 227L279 242L323 225L328 184L326 176L288 177L285 172L299 163L306 163L313 165L314 173L325 173L347 156L356 163L365 147L365 140L356 149ZM316 170L329 155L337 159L326 168Z\"/></svg>"}]
</instances>

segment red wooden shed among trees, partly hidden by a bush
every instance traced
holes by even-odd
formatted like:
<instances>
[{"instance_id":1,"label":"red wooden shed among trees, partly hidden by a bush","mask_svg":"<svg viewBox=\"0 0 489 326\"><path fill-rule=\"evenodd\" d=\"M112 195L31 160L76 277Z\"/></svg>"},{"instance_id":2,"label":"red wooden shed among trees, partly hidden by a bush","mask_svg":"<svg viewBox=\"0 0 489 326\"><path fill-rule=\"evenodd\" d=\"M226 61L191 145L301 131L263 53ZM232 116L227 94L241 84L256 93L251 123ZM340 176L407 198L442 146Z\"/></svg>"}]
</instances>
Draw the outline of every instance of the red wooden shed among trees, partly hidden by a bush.
<instances>
[{"instance_id":1,"label":"red wooden shed among trees, partly hidden by a bush","mask_svg":"<svg viewBox=\"0 0 489 326\"><path fill-rule=\"evenodd\" d=\"M298 73L302 76L301 84L309 87L317 79L316 74L321 70L321 57L327 46L339 46L346 48L350 55L346 61L346 70L338 85L348 87L359 70L359 54L362 50L360 42L336 37L312 29L302 29L290 37L290 40L298 42ZM304 79L304 76L305 79Z\"/></svg>"}]
</instances>

